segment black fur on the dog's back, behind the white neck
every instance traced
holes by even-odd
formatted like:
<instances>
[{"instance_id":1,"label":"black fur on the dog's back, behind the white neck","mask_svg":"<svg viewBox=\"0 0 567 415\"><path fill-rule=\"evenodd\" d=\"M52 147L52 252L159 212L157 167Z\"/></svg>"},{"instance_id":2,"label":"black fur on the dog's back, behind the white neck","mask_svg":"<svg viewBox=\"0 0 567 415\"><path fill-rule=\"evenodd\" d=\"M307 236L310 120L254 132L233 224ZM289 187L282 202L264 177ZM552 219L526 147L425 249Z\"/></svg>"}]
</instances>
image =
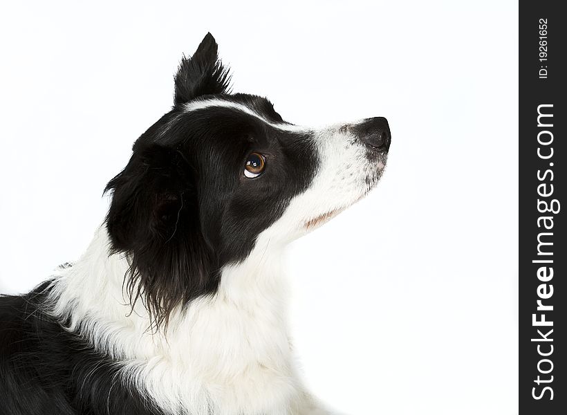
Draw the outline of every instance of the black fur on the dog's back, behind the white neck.
<instances>
[{"instance_id":1,"label":"black fur on the dog's back, behind the white neck","mask_svg":"<svg viewBox=\"0 0 567 415\"><path fill-rule=\"evenodd\" d=\"M120 366L44 312L48 282L0 301L1 415L162 415Z\"/></svg>"}]
</instances>

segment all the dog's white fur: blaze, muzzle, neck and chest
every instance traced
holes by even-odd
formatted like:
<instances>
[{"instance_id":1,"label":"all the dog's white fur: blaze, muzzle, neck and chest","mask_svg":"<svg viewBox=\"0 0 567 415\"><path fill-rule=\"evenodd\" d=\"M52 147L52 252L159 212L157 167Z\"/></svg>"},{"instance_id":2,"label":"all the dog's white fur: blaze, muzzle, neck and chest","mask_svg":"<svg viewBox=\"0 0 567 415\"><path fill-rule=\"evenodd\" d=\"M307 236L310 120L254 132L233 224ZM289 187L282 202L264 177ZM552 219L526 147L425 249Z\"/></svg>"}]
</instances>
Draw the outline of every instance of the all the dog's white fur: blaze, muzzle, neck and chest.
<instances>
[{"instance_id":1,"label":"all the dog's white fur: blaze, muzzle, neck and chest","mask_svg":"<svg viewBox=\"0 0 567 415\"><path fill-rule=\"evenodd\" d=\"M267 122L246 107L220 100L188 104L187 111L207 105L239 109ZM281 250L308 232L309 221L364 196L371 186L366 181L371 177L373 183L378 169L347 127L318 131L315 140L321 166L308 190L259 235L247 259L223 268L216 295L172 313L167 333L148 330L142 302L129 312L122 286L129 264L122 255L109 256L104 226L82 258L59 271L52 313L61 320L68 317L69 330L120 362L124 381L168 414L328 413L306 393L297 373L286 326Z\"/></svg>"}]
</instances>

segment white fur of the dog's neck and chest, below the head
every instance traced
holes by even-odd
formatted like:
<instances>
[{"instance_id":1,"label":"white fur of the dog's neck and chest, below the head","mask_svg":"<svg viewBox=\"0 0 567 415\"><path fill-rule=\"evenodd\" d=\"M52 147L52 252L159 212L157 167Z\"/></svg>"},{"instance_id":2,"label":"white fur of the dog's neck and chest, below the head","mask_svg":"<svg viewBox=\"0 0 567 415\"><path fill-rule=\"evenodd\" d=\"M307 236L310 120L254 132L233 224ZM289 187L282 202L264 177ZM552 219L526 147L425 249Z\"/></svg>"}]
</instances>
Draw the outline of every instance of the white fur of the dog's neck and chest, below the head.
<instances>
[{"instance_id":1,"label":"white fur of the dog's neck and chest, below the head","mask_svg":"<svg viewBox=\"0 0 567 415\"><path fill-rule=\"evenodd\" d=\"M174 311L156 333L142 302L130 312L127 260L109 257L108 243L101 227L57 276L53 312L120 362L125 382L171 414L312 413L290 350L279 252L226 267L214 296Z\"/></svg>"}]
</instances>

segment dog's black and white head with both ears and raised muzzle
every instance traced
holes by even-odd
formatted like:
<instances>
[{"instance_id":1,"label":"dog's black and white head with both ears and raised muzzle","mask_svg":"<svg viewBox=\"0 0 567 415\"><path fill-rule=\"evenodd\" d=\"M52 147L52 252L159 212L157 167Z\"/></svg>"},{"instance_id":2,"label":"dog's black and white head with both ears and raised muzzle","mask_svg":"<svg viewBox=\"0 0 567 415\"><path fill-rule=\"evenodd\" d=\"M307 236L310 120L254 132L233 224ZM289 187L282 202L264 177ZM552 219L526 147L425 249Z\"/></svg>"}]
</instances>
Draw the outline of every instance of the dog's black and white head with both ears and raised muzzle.
<instances>
[{"instance_id":1,"label":"dog's black and white head with both ears and raised muzzle","mask_svg":"<svg viewBox=\"0 0 567 415\"><path fill-rule=\"evenodd\" d=\"M214 293L223 267L261 239L283 246L361 199L386 163L385 118L298 127L228 80L207 34L180 63L173 109L106 187L112 250L127 254L133 302L142 296L158 322Z\"/></svg>"}]
</instances>

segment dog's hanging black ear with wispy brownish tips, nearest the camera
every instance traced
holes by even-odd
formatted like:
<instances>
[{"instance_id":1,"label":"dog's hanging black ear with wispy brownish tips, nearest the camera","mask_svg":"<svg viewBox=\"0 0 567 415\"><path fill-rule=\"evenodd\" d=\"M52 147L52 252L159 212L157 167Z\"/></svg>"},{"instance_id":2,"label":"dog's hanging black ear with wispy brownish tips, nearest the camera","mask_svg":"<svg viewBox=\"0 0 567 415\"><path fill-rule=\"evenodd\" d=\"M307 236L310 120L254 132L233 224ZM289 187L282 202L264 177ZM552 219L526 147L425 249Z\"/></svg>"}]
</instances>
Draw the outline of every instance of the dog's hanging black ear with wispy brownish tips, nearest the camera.
<instances>
[{"instance_id":1,"label":"dog's hanging black ear with wispy brownish tips, nearest the camera","mask_svg":"<svg viewBox=\"0 0 567 415\"><path fill-rule=\"evenodd\" d=\"M131 306L142 299L151 324L167 325L176 306L216 290L216 260L201 232L194 173L176 149L134 151L104 192L111 253L127 255L124 284Z\"/></svg>"}]
</instances>

